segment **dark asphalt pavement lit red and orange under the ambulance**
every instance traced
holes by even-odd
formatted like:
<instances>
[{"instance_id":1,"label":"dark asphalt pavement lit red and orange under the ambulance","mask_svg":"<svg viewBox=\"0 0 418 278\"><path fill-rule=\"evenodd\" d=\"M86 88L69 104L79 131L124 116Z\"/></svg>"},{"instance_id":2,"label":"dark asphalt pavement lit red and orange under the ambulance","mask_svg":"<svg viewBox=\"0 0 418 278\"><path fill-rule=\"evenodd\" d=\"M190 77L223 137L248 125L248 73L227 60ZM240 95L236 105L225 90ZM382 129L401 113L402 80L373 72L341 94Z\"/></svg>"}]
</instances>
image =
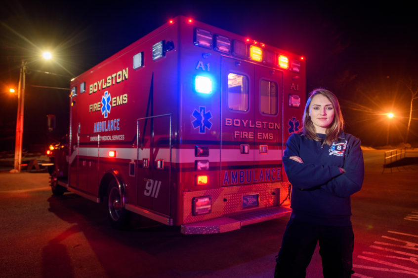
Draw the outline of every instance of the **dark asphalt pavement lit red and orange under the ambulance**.
<instances>
[{"instance_id":1,"label":"dark asphalt pavement lit red and orange under the ambulance","mask_svg":"<svg viewBox=\"0 0 418 278\"><path fill-rule=\"evenodd\" d=\"M365 181L352 196L353 277L418 277L418 164L383 168L383 153L364 150ZM273 275L287 219L217 235L185 236L146 221L118 231L99 204L72 193L51 196L47 173L8 170L0 172L1 278ZM318 250L307 277L322 277Z\"/></svg>"}]
</instances>

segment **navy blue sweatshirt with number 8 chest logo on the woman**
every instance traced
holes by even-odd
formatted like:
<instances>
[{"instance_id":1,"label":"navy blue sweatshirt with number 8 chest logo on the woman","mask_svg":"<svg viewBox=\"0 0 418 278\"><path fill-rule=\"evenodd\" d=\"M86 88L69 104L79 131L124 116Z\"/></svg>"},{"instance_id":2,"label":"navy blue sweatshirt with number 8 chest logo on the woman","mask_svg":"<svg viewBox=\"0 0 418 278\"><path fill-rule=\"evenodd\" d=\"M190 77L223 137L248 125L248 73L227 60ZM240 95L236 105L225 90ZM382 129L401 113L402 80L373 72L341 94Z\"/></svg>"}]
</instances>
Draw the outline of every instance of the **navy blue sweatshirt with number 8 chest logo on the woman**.
<instances>
[{"instance_id":1,"label":"navy blue sweatshirt with number 8 chest logo on the woman","mask_svg":"<svg viewBox=\"0 0 418 278\"><path fill-rule=\"evenodd\" d=\"M318 136L325 139L325 134ZM292 184L292 218L328 226L351 225L350 195L361 189L364 178L360 145L360 139L345 133L331 146L301 134L289 137L283 164Z\"/></svg>"}]
</instances>

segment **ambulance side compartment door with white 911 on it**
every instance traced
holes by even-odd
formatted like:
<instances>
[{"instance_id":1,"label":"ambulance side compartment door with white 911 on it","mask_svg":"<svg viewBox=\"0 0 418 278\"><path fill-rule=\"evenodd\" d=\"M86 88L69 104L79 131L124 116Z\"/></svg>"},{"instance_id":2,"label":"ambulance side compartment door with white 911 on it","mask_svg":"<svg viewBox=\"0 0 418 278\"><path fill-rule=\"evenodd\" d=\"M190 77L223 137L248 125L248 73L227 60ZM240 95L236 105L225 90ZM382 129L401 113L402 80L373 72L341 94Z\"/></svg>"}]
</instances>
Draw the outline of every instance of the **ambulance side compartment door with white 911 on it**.
<instances>
[{"instance_id":1,"label":"ambulance side compartment door with white 911 on it","mask_svg":"<svg viewBox=\"0 0 418 278\"><path fill-rule=\"evenodd\" d=\"M137 205L170 215L171 115L138 120Z\"/></svg>"}]
</instances>

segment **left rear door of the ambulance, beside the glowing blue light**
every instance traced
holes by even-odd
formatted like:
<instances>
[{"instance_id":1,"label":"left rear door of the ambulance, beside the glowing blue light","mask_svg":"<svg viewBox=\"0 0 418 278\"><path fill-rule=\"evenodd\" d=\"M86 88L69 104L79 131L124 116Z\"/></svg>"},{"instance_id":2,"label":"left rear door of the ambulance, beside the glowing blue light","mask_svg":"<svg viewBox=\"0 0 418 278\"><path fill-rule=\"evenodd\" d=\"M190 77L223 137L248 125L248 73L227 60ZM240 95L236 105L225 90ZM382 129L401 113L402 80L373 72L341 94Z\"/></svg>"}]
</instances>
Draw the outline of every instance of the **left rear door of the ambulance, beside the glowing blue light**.
<instances>
[{"instance_id":1,"label":"left rear door of the ambulance, beside the glowing blue light","mask_svg":"<svg viewBox=\"0 0 418 278\"><path fill-rule=\"evenodd\" d=\"M254 179L254 65L221 60L221 186Z\"/></svg>"}]
</instances>

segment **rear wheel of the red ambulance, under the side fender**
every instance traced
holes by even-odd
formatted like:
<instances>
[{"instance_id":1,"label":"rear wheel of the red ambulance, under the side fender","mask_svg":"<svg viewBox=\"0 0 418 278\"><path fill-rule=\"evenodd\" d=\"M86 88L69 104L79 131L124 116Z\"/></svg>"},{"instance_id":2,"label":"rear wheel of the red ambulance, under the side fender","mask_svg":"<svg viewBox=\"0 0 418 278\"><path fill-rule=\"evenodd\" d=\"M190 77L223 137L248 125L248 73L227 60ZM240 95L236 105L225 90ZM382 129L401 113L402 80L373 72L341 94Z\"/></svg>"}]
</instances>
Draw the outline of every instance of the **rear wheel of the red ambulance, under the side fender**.
<instances>
[{"instance_id":1,"label":"rear wheel of the red ambulance, under the side fender","mask_svg":"<svg viewBox=\"0 0 418 278\"><path fill-rule=\"evenodd\" d=\"M122 204L116 180L112 180L107 188L107 212L110 225L116 229L125 229L129 222L129 211Z\"/></svg>"}]
</instances>

